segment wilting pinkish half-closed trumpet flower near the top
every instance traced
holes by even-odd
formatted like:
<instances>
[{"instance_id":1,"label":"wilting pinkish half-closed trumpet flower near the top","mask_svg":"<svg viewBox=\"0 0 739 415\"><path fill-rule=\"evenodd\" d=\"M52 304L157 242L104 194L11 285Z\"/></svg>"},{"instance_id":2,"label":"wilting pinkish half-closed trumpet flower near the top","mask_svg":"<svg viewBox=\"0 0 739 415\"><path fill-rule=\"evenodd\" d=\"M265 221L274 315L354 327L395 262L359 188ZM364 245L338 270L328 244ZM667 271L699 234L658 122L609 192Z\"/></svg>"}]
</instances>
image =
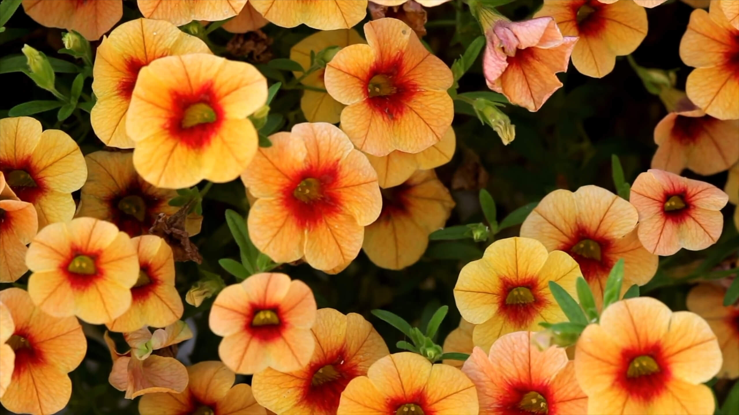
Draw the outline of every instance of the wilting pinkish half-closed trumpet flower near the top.
<instances>
[{"instance_id":1,"label":"wilting pinkish half-closed trumpet flower near the top","mask_svg":"<svg viewBox=\"0 0 739 415\"><path fill-rule=\"evenodd\" d=\"M576 36L562 36L551 17L501 19L486 38L483 72L488 88L529 111L538 111L562 86L554 74L567 70L577 41Z\"/></svg>"}]
</instances>

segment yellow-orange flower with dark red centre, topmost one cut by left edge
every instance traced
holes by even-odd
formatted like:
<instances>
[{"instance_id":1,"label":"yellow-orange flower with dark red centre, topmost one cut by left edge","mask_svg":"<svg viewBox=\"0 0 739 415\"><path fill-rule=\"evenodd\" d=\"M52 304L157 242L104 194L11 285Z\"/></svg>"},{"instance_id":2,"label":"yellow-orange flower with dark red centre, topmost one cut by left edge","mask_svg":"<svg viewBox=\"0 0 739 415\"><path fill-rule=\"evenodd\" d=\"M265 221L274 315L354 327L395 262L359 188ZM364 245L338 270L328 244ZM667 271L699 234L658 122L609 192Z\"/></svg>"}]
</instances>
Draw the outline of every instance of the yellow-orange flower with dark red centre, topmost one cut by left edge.
<instances>
[{"instance_id":1,"label":"yellow-orange flower with dark red centre, topmost one cut by left edge","mask_svg":"<svg viewBox=\"0 0 739 415\"><path fill-rule=\"evenodd\" d=\"M64 131L42 133L41 123L31 117L0 120L0 172L19 199L33 203L39 229L72 219L72 192L87 176L75 140Z\"/></svg>"}]
</instances>

